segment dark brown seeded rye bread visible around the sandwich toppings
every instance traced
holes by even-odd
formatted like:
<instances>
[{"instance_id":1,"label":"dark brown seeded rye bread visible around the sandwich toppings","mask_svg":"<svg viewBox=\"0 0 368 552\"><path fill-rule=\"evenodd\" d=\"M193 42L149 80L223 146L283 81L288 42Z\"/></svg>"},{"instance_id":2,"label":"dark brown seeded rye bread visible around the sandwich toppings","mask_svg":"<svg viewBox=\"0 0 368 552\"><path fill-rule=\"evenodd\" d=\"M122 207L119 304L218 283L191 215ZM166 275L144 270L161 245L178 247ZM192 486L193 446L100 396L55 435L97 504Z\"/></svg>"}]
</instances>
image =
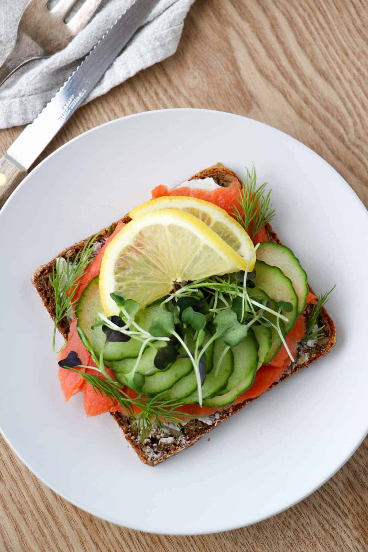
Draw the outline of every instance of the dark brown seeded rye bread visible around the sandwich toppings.
<instances>
[{"instance_id":1,"label":"dark brown seeded rye bread visible around the sandwich toppings","mask_svg":"<svg viewBox=\"0 0 368 552\"><path fill-rule=\"evenodd\" d=\"M224 187L227 187L228 185L230 185L231 182L234 181L240 182L237 175L230 169L223 167L221 163L217 163L212 167L206 168L203 171L194 174L194 176L191 177L190 180L202 179L207 177L214 178L217 184L220 184ZM129 216L126 215L122 217L121 220L123 222L129 222L131 219L129 218ZM116 224L118 224L118 222L114 222L108 228L100 231L96 238L97 241L103 244L109 237L109 235L114 231ZM270 241L274 241L282 245L278 235L271 228L270 224L266 225L266 232ZM87 240L88 239L89 238L87 238ZM87 240L76 243L75 245L67 248L65 251L62 251L59 254L59 257L66 258L69 255L72 261L78 251L83 248ZM47 311L49 312L52 320L55 320L55 296L54 291L50 285L49 275L51 274L52 267L55 266L56 260L56 258L52 259L52 261L40 267L38 270L36 270L32 277L33 285L38 291L40 298ZM313 293L313 290L309 284L308 287L311 293ZM308 305L305 312L303 313L306 321L311 314L311 310L312 306ZM319 326L323 324L325 325L324 333L326 333L326 337L323 337L318 342L299 343L295 362L291 362L289 364L284 373L281 374L280 378L269 387L268 391L270 389L273 389L275 385L281 383L281 381L289 378L289 376L291 376L292 374L295 374L298 370L306 368L308 365L314 362L314 360L317 360L330 351L336 341L336 330L331 317L324 308L321 311L321 317L318 321ZM63 319L58 324L58 330L62 333L63 337L67 339L69 331L69 321L67 319ZM227 418L233 416L233 414L235 414L239 410L242 410L244 406L254 401L255 399L258 399L258 397L245 400L238 405L228 408L228 410L218 410L210 416L190 420L186 423L180 424L180 429L173 426L172 424L164 425L162 428L154 424L150 435L144 443L140 442L136 428L135 426L131 425L129 417L125 416L121 412L111 413L111 416L115 418L115 421L119 424L122 431L124 432L125 438L132 445L142 462L147 465L154 466L173 456L174 454L177 454L178 452L180 452L180 450L190 447L205 433L208 433L209 431L211 431L211 429L214 429L216 426L218 426L219 423L227 420Z\"/></svg>"}]
</instances>

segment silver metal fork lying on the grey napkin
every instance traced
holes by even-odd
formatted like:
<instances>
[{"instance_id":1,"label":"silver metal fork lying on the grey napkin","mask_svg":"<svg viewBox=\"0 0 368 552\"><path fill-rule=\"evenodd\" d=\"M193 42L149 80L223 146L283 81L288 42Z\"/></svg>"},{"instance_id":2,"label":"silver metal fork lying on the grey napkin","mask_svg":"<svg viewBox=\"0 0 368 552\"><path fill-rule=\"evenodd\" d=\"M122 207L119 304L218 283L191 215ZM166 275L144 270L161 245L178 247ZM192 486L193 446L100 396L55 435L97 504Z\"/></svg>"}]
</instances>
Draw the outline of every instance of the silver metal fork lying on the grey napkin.
<instances>
[{"instance_id":1,"label":"silver metal fork lying on the grey napkin","mask_svg":"<svg viewBox=\"0 0 368 552\"><path fill-rule=\"evenodd\" d=\"M77 0L59 0L47 9L49 0L29 0L20 15L17 40L0 66L0 86L10 75L28 63L63 50L93 18L103 0L85 0L70 22L65 18Z\"/></svg>"}]
</instances>

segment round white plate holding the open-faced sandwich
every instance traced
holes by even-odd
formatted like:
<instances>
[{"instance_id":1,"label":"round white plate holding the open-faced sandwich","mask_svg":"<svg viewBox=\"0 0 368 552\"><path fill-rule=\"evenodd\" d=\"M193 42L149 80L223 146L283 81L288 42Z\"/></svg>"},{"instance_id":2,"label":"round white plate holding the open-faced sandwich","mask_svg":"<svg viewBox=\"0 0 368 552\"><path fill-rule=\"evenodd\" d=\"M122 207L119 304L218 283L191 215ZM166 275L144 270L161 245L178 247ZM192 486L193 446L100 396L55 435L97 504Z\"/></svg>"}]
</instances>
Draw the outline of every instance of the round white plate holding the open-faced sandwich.
<instances>
[{"instance_id":1,"label":"round white plate holding the open-faced sandwich","mask_svg":"<svg viewBox=\"0 0 368 552\"><path fill-rule=\"evenodd\" d=\"M78 115L77 115L78 116ZM252 162L273 188L273 226L314 290L335 291L332 352L173 459L152 469L108 414L65 405L52 323L31 274L63 248L221 161ZM153 533L196 534L255 523L322 485L368 431L368 219L316 153L257 121L206 110L142 113L78 136L42 162L0 215L1 430L42 481L95 516Z\"/></svg>"}]
</instances>

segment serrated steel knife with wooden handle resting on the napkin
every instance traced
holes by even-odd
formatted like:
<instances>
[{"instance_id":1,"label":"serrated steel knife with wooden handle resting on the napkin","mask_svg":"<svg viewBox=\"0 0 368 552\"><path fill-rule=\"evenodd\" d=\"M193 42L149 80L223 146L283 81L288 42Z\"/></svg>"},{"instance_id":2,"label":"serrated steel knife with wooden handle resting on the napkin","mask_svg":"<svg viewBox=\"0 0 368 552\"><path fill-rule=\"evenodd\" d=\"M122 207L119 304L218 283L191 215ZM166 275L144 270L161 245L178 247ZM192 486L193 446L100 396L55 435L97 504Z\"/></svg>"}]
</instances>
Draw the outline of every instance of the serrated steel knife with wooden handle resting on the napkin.
<instances>
[{"instance_id":1,"label":"serrated steel knife with wooden handle resting on the napkin","mask_svg":"<svg viewBox=\"0 0 368 552\"><path fill-rule=\"evenodd\" d=\"M0 159L0 208L160 0L134 0Z\"/></svg>"}]
</instances>

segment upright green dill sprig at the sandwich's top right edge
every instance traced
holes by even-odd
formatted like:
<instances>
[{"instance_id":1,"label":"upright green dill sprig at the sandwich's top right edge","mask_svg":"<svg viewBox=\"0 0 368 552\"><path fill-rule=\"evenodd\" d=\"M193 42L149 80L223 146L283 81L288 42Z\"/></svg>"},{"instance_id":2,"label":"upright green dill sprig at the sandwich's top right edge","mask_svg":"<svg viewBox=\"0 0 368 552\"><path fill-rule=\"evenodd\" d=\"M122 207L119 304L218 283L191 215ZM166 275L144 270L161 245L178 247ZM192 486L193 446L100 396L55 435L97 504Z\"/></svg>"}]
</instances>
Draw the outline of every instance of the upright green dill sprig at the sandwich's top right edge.
<instances>
[{"instance_id":1,"label":"upright green dill sprig at the sandwich's top right edge","mask_svg":"<svg viewBox=\"0 0 368 552\"><path fill-rule=\"evenodd\" d=\"M269 190L267 195L264 195L265 187L267 183L257 185L257 173L255 172L254 165L252 171L247 169L247 177L243 181L243 185L240 191L240 198L237 198L238 204L244 212L244 216L241 215L237 206L234 207L233 215L236 220L244 227L244 230L248 232L249 225L252 224L252 236L275 215L275 209L272 208L270 203L270 194L272 190Z\"/></svg>"}]
</instances>

